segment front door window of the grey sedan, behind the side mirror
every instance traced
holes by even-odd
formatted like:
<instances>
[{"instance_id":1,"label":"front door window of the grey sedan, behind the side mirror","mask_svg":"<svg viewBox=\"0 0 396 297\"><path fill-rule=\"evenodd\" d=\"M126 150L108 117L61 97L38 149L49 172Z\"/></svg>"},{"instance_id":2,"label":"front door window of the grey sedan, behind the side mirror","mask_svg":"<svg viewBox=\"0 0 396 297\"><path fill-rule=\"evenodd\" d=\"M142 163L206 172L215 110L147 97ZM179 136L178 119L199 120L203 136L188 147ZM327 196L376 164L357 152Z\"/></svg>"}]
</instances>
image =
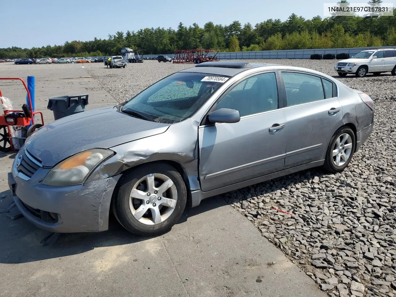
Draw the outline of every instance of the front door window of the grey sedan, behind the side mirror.
<instances>
[{"instance_id":1,"label":"front door window of the grey sedan, behind the side mirror","mask_svg":"<svg viewBox=\"0 0 396 297\"><path fill-rule=\"evenodd\" d=\"M278 108L278 88L274 72L257 74L242 80L217 103L217 109L228 108L248 116Z\"/></svg>"}]
</instances>

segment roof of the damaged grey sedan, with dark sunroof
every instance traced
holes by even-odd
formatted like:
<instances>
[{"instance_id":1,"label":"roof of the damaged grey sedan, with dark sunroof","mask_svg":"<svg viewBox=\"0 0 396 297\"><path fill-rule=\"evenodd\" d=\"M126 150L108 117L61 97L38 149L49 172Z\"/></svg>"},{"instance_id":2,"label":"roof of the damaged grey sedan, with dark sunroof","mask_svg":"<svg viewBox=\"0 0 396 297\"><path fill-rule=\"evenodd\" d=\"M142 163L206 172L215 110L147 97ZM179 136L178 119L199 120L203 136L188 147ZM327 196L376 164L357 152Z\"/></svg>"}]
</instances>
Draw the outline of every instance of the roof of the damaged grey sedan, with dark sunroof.
<instances>
[{"instance_id":1,"label":"roof of the damaged grey sedan, with dark sunroof","mask_svg":"<svg viewBox=\"0 0 396 297\"><path fill-rule=\"evenodd\" d=\"M234 76L247 69L252 69L255 67L263 67L263 66L281 66L281 65L270 64L270 63L218 61L218 62L205 62L202 64L198 64L194 68L184 69L181 70L180 72L201 72L201 73L209 73L209 74Z\"/></svg>"}]
</instances>

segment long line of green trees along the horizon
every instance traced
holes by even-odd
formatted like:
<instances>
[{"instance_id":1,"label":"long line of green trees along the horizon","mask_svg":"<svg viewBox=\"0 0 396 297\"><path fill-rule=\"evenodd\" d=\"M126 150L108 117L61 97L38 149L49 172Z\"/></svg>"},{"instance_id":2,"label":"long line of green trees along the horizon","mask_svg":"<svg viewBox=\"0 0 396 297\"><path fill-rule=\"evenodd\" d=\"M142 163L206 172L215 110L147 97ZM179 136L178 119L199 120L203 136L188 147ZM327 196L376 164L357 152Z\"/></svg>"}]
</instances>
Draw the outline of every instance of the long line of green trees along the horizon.
<instances>
[{"instance_id":1,"label":"long line of green trees along the horizon","mask_svg":"<svg viewBox=\"0 0 396 297\"><path fill-rule=\"evenodd\" d=\"M369 4L380 3L371 0ZM345 0L339 3L348 2ZM143 49L143 54L174 53L176 49L257 51L310 48L350 48L396 45L396 16L320 16L305 19L294 13L286 21L268 19L256 25L233 21L208 22L203 28L179 23L177 29L145 28L117 31L107 39L74 40L41 48L0 48L0 58L88 57L118 55L122 48Z\"/></svg>"}]
</instances>

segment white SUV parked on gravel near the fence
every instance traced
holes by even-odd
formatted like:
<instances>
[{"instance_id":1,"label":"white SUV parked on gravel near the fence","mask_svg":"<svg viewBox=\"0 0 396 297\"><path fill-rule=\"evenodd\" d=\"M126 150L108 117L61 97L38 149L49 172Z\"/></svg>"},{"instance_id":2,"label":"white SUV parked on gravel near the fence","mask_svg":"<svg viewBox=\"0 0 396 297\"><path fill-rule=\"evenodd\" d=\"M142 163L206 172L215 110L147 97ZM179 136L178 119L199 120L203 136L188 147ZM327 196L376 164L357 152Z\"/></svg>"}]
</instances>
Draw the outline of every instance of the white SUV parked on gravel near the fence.
<instances>
[{"instance_id":1,"label":"white SUV parked on gravel near the fence","mask_svg":"<svg viewBox=\"0 0 396 297\"><path fill-rule=\"evenodd\" d=\"M389 71L396 75L396 49L366 49L350 59L339 61L334 70L340 76L350 73L364 77L367 73L378 75Z\"/></svg>"}]
</instances>

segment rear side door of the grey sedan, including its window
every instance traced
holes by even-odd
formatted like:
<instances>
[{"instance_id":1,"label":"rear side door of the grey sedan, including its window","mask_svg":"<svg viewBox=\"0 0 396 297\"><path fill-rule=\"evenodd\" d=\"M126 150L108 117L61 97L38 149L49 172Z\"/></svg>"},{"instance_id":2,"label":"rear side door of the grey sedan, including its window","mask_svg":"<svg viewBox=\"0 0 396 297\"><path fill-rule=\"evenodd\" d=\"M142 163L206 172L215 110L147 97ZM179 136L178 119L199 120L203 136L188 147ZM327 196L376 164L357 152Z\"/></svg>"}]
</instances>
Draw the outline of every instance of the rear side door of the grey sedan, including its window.
<instances>
[{"instance_id":1,"label":"rear side door of the grey sedan, including its window","mask_svg":"<svg viewBox=\"0 0 396 297\"><path fill-rule=\"evenodd\" d=\"M305 72L281 72L286 89L285 169L323 160L342 122L336 85Z\"/></svg>"}]
</instances>

